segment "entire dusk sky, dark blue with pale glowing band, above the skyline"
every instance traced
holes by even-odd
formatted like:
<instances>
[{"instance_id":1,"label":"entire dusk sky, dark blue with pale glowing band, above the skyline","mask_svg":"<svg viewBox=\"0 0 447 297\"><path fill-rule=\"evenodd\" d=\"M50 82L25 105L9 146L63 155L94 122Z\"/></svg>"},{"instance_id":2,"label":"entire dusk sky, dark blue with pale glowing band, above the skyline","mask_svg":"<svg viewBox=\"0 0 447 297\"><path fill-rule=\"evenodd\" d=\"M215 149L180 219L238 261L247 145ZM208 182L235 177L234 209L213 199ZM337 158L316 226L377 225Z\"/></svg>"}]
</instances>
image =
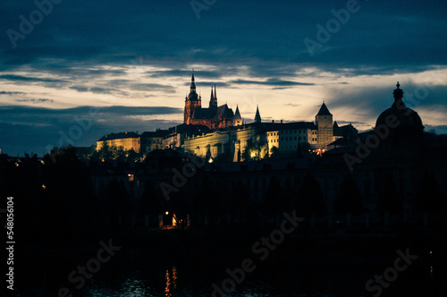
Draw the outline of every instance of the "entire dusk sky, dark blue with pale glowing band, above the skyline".
<instances>
[{"instance_id":1,"label":"entire dusk sky, dark blue with pale glowing band, above the skyline","mask_svg":"<svg viewBox=\"0 0 447 297\"><path fill-rule=\"evenodd\" d=\"M400 81L426 131L447 132L444 1L53 1L0 2L6 154L42 156L73 126L91 146L182 123L192 68L203 106L216 84L247 122L257 105L263 121L313 121L325 100L366 131Z\"/></svg>"}]
</instances>

